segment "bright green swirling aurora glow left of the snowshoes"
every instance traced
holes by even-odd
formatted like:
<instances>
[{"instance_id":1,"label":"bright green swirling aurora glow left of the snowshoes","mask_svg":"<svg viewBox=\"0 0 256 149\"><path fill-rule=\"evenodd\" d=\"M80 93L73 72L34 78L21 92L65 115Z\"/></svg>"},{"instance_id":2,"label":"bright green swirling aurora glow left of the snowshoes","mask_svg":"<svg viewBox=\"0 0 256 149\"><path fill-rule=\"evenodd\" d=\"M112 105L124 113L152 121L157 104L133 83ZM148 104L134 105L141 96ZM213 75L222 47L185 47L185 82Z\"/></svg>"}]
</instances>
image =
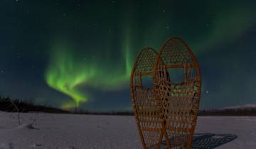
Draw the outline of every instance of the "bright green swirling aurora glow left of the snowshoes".
<instances>
[{"instance_id":1,"label":"bright green swirling aurora glow left of the snowshoes","mask_svg":"<svg viewBox=\"0 0 256 149\"><path fill-rule=\"evenodd\" d=\"M80 106L90 99L90 94L80 90L80 86L97 87L98 89L113 89L127 82L132 70L132 60L129 57L129 41L123 46L124 67L117 67L115 72L100 67L94 60L81 62L75 60L72 46L65 42L53 44L50 61L46 70L46 82L49 87L70 96L72 101L61 104L63 109ZM65 43L65 44L64 44ZM109 68L107 68L109 69ZM121 73L120 73L121 72ZM102 74L106 74L102 76Z\"/></svg>"}]
</instances>

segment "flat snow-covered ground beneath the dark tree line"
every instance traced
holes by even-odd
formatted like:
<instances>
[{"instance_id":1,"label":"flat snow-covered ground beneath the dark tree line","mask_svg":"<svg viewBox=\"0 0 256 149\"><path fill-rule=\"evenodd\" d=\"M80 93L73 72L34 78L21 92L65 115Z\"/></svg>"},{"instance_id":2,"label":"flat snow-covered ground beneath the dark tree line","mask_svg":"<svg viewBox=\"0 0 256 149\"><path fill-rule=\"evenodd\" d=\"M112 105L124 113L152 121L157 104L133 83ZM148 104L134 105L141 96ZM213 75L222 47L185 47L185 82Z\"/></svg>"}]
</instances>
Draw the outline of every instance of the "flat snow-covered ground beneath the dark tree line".
<instances>
[{"instance_id":1,"label":"flat snow-covered ground beneath the dark tree line","mask_svg":"<svg viewBox=\"0 0 256 149\"><path fill-rule=\"evenodd\" d=\"M0 149L142 148L133 116L21 114L21 117L23 125L18 126L17 118L0 113ZM34 117L36 121L31 127L28 123ZM256 117L201 116L195 137L200 133L210 134L215 139L233 137L230 142L224 139L218 149L254 149ZM207 141L216 143L214 139L205 139L206 144Z\"/></svg>"}]
</instances>

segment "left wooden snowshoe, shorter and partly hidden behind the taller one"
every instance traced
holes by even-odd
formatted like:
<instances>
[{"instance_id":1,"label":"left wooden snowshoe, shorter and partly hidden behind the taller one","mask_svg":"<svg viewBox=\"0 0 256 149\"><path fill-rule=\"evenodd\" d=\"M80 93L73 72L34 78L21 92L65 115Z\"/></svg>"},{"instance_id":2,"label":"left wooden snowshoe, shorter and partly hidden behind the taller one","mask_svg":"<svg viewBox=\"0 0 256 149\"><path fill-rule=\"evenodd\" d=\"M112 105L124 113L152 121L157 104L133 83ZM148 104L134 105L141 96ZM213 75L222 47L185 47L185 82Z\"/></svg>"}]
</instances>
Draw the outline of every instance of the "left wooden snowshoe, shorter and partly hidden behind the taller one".
<instances>
[{"instance_id":1,"label":"left wooden snowshoe, shorter and partly hidden behind the taller one","mask_svg":"<svg viewBox=\"0 0 256 149\"><path fill-rule=\"evenodd\" d=\"M139 136L143 148L160 147L162 133L162 118L159 117L159 107L156 103L153 72L157 60L156 50L144 48L137 56L131 76L131 96L134 116L137 121ZM149 77L146 84L143 77ZM150 80L151 79L151 80Z\"/></svg>"}]
</instances>

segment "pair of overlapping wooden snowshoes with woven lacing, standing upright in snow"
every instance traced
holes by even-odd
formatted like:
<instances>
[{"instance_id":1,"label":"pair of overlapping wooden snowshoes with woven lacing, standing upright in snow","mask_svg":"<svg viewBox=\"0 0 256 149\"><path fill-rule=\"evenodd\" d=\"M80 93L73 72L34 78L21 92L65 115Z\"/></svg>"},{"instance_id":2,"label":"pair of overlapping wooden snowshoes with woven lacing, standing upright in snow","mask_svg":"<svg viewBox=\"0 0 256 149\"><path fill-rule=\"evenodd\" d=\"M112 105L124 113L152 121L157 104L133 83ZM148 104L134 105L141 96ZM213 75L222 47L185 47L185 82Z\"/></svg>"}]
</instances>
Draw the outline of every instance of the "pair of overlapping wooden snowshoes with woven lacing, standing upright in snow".
<instances>
[{"instance_id":1,"label":"pair of overlapping wooden snowshoes with woven lacing, standing upright in snow","mask_svg":"<svg viewBox=\"0 0 256 149\"><path fill-rule=\"evenodd\" d=\"M183 70L180 82L172 79L177 69ZM152 78L152 84L144 83L145 76ZM201 71L181 38L166 40L159 54L144 48L131 75L132 104L143 148L161 148L163 136L169 149L190 148L200 95Z\"/></svg>"}]
</instances>

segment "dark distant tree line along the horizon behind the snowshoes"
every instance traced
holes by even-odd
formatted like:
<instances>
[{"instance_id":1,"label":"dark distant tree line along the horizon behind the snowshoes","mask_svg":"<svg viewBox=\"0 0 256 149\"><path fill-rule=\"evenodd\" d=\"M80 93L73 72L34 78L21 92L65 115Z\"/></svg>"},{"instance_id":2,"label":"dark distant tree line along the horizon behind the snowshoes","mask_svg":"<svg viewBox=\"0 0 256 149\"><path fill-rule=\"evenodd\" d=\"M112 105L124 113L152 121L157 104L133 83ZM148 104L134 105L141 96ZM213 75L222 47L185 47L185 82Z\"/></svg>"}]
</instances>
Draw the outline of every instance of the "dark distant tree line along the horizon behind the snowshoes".
<instances>
[{"instance_id":1,"label":"dark distant tree line along the horizon behind the snowshoes","mask_svg":"<svg viewBox=\"0 0 256 149\"><path fill-rule=\"evenodd\" d=\"M0 111L6 112L45 112L54 114L92 114L92 115L119 115L133 116L133 111L90 111L84 109L74 109L65 111L50 106L35 105L32 100L22 101L20 99L10 99L0 96ZM256 116L256 108L250 109L203 109L198 116Z\"/></svg>"}]
</instances>

